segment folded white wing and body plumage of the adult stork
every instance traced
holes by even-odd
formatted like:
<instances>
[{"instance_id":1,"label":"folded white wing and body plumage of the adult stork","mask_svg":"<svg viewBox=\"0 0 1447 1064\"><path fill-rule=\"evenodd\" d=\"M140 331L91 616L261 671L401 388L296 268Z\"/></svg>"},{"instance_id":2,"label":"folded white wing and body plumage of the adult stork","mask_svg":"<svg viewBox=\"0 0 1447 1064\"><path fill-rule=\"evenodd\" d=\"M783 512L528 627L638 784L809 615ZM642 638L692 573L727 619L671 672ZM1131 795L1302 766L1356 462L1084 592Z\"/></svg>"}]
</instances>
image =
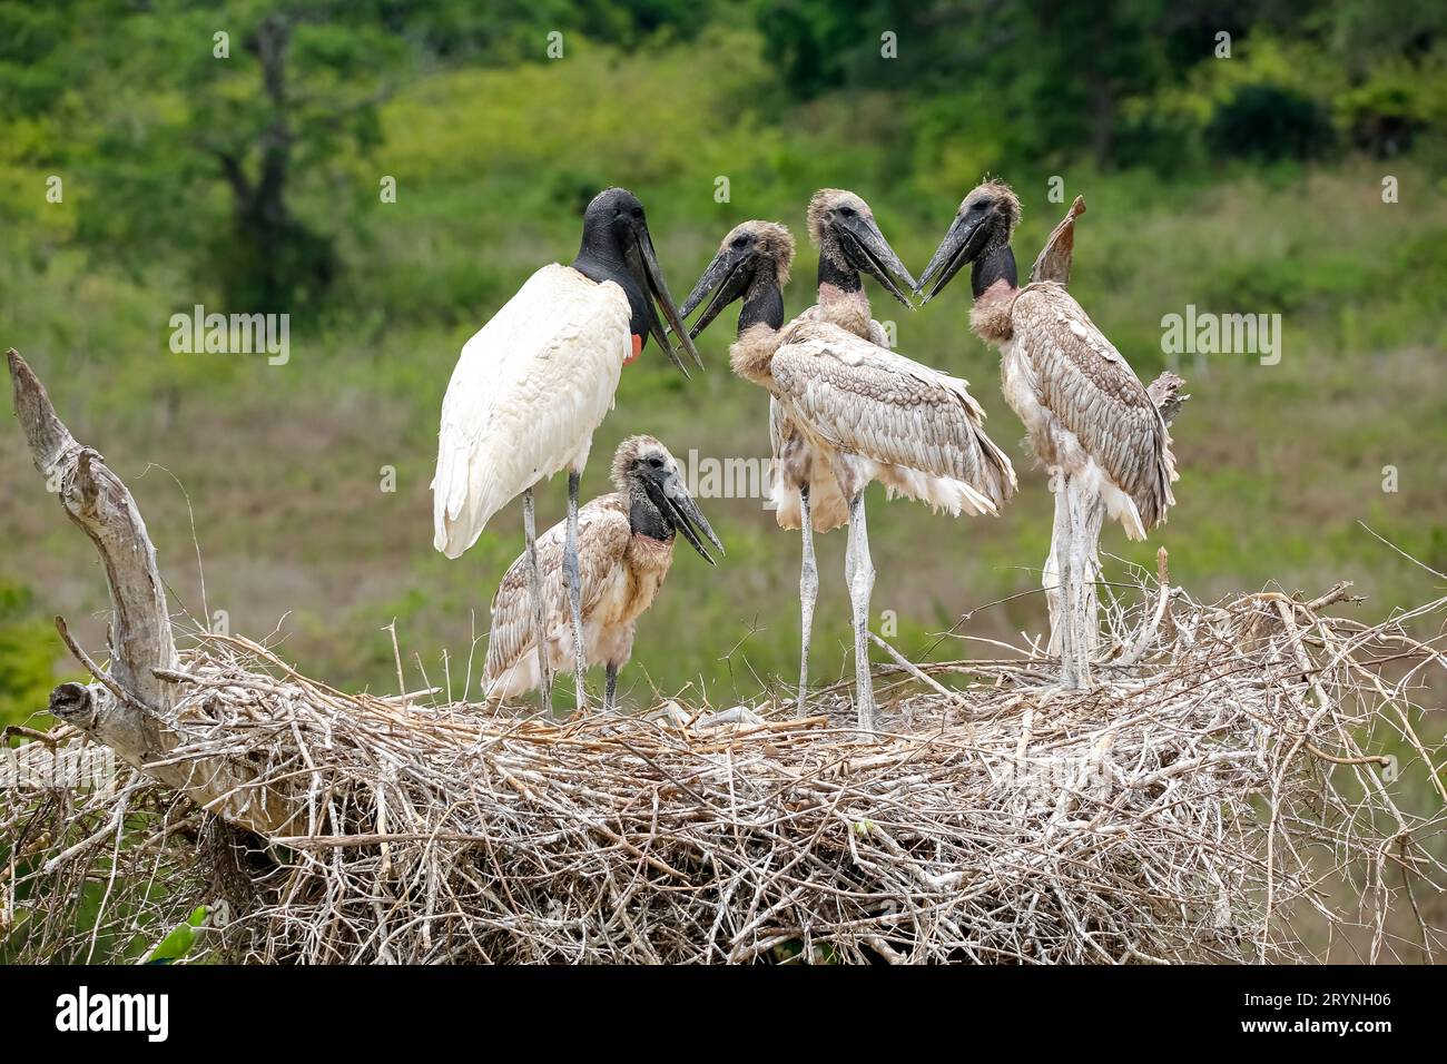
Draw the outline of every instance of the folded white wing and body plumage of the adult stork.
<instances>
[{"instance_id":1,"label":"folded white wing and body plumage of the adult stork","mask_svg":"<svg viewBox=\"0 0 1447 1064\"><path fill-rule=\"evenodd\" d=\"M544 266L462 349L443 400L433 544L470 547L498 510L587 457L632 350L628 297Z\"/></svg>"}]
</instances>

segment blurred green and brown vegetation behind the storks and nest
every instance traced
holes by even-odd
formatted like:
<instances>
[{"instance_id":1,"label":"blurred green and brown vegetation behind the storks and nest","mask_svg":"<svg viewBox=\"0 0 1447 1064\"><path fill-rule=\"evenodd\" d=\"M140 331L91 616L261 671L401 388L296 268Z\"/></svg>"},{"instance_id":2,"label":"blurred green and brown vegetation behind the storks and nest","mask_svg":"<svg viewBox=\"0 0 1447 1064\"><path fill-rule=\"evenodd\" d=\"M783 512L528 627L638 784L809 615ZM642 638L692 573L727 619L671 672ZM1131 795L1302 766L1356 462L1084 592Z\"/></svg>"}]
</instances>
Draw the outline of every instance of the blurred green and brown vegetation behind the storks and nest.
<instances>
[{"instance_id":1,"label":"blurred green and brown vegetation behind the storks and nest","mask_svg":"<svg viewBox=\"0 0 1447 1064\"><path fill-rule=\"evenodd\" d=\"M1064 211L1046 197L1059 175L1090 203L1072 288L1142 378L1165 365L1163 314L1283 316L1276 366L1187 359L1179 507L1150 543L1110 531L1106 549L1153 569L1165 546L1201 596L1353 579L1378 617L1440 580L1359 521L1447 570L1444 74L1447 12L1404 0L0 3L0 342L130 484L178 607L386 691L395 618L408 685L421 669L443 683L447 651L462 695L521 517L457 562L431 549L441 397L463 342L572 258L595 191L644 200L682 295L737 221L805 243L823 185L864 195L917 272L965 191L1001 175L1027 263ZM1382 201L1388 175L1399 203ZM807 258L792 310L812 301ZM955 631L1045 624L1022 592L1039 586L1051 497L967 297L875 300L904 353L972 381L1022 473L998 520L871 497L875 622L893 611L916 656L978 653L933 634L1009 596ZM289 311L289 362L172 353L169 317L194 304ZM729 375L729 333L705 337L693 381L651 347L625 372L585 495L637 431L680 457L767 457L767 401ZM540 520L563 502L559 481ZM625 701L692 688L726 705L796 667L796 537L758 501L703 505L728 557L679 556ZM842 533L819 547L825 677L846 654ZM106 608L90 544L0 427L0 724L38 722L72 670L49 617L100 647Z\"/></svg>"}]
</instances>

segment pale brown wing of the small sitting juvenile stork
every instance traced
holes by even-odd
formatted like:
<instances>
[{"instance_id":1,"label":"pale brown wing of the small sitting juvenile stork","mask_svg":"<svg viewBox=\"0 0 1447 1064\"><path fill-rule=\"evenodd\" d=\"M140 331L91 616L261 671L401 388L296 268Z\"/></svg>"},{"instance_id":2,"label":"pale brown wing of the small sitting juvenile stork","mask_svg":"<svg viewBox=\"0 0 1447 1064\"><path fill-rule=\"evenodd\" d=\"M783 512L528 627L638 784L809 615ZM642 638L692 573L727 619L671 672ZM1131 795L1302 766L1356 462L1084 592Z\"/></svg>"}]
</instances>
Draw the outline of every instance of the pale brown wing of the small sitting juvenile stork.
<instances>
[{"instance_id":1,"label":"pale brown wing of the small sitting juvenile stork","mask_svg":"<svg viewBox=\"0 0 1447 1064\"><path fill-rule=\"evenodd\" d=\"M577 567L583 620L592 612L628 549L625 504L603 495L577 511ZM538 536L538 569L543 573L543 618L548 634L564 631L572 611L563 589L563 544L567 524L559 521ZM512 667L537 643L532 624L532 588L527 552L508 566L492 598L492 634L488 637L488 676ZM569 643L572 646L572 643Z\"/></svg>"}]
</instances>

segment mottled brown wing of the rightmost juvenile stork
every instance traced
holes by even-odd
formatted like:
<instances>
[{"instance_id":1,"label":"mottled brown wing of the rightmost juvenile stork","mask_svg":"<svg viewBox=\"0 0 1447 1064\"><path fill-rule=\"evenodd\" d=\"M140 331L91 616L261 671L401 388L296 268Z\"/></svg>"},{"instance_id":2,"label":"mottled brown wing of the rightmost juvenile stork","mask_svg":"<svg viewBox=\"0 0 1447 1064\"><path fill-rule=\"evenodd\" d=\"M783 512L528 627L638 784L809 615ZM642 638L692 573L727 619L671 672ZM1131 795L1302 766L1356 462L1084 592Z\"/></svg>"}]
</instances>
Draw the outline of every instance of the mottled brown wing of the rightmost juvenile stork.
<instances>
[{"instance_id":1,"label":"mottled brown wing of the rightmost juvenile stork","mask_svg":"<svg viewBox=\"0 0 1447 1064\"><path fill-rule=\"evenodd\" d=\"M1011 310L1035 394L1136 502L1146 528L1175 505L1171 434L1130 363L1058 284L1026 288Z\"/></svg>"}]
</instances>

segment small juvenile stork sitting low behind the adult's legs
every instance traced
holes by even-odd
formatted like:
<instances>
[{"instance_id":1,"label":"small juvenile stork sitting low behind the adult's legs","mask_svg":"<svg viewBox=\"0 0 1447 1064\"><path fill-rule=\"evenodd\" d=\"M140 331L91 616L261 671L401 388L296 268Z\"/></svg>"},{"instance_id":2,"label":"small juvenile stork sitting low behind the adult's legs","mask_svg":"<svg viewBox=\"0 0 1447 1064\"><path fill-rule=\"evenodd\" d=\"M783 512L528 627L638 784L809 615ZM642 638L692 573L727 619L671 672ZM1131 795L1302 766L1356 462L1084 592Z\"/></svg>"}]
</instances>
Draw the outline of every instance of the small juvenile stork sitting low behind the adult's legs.
<instances>
[{"instance_id":1,"label":"small juvenile stork sitting low behind the adult's legs","mask_svg":"<svg viewBox=\"0 0 1447 1064\"><path fill-rule=\"evenodd\" d=\"M634 625L653 605L673 565L676 533L713 565L702 534L724 544L703 511L683 486L679 463L651 436L632 436L614 455L614 488L577 511L577 580L582 599L583 660L606 666L603 709L614 708L618 670L632 654ZM531 566L527 554L508 567L492 599L492 634L488 640L488 698L512 698L543 682L544 670L567 672L570 607L564 604L567 528L560 521L537 540L543 573L543 628L540 644L532 617ZM540 654L543 646L546 653Z\"/></svg>"}]
</instances>

